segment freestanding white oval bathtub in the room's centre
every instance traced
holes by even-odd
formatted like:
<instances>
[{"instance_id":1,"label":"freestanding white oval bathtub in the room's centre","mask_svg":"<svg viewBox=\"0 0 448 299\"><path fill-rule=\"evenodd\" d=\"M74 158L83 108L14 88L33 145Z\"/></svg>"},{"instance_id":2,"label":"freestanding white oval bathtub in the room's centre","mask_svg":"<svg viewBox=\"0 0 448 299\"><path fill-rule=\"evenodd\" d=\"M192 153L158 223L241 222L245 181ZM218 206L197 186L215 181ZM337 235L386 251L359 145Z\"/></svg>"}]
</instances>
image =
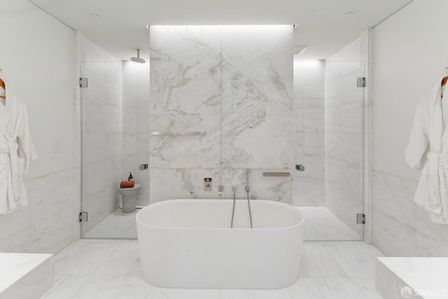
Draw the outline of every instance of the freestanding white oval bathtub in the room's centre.
<instances>
[{"instance_id":1,"label":"freestanding white oval bathtub in the room's centre","mask_svg":"<svg viewBox=\"0 0 448 299\"><path fill-rule=\"evenodd\" d=\"M174 288L283 288L299 277L304 216L297 207L251 200L167 200L137 213L141 271Z\"/></svg>"}]
</instances>

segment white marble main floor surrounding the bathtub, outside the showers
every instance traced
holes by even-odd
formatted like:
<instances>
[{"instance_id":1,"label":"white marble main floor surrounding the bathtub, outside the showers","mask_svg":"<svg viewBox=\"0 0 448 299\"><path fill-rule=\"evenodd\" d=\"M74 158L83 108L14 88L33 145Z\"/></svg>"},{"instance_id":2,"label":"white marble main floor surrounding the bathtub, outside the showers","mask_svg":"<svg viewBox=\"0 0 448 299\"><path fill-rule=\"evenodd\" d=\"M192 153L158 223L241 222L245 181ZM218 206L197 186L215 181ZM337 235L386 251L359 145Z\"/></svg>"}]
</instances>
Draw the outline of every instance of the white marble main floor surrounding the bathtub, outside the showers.
<instances>
[{"instance_id":1,"label":"white marble main floor surrounding the bathtub, outside the showers","mask_svg":"<svg viewBox=\"0 0 448 299\"><path fill-rule=\"evenodd\" d=\"M159 288L141 277L137 240L81 239L55 255L55 285L42 298L381 299L377 256L364 242L304 242L300 278L287 288Z\"/></svg>"}]
</instances>

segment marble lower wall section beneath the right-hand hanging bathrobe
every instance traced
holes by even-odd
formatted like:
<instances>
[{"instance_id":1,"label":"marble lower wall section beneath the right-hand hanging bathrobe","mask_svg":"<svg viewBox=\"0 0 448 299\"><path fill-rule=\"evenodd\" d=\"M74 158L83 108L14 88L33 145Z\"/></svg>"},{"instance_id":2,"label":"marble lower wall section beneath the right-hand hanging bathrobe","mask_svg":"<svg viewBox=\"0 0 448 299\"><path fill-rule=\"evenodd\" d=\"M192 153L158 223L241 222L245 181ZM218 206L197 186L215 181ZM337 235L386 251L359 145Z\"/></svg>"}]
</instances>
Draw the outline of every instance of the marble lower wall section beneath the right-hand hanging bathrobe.
<instances>
[{"instance_id":1,"label":"marble lower wall section beneath the right-hand hanging bathrobe","mask_svg":"<svg viewBox=\"0 0 448 299\"><path fill-rule=\"evenodd\" d=\"M448 225L413 202L417 182L374 171L373 244L388 256L448 256Z\"/></svg>"}]
</instances>

